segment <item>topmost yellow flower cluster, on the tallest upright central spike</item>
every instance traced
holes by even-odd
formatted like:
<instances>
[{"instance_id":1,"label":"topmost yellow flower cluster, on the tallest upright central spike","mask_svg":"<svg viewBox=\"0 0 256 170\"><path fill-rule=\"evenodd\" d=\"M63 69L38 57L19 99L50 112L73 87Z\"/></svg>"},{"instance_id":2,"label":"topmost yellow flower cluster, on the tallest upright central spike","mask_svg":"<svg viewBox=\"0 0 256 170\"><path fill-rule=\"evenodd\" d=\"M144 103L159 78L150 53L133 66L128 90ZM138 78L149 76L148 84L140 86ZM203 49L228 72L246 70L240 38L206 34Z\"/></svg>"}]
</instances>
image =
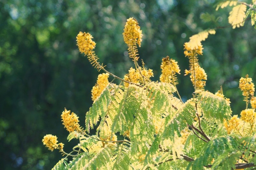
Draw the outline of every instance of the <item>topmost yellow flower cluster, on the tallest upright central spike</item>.
<instances>
[{"instance_id":1,"label":"topmost yellow flower cluster, on the tallest upright central spike","mask_svg":"<svg viewBox=\"0 0 256 170\"><path fill-rule=\"evenodd\" d=\"M134 43L140 47L142 41L142 31L140 30L140 26L136 19L129 18L124 26L124 42L128 46L132 46Z\"/></svg>"}]
</instances>

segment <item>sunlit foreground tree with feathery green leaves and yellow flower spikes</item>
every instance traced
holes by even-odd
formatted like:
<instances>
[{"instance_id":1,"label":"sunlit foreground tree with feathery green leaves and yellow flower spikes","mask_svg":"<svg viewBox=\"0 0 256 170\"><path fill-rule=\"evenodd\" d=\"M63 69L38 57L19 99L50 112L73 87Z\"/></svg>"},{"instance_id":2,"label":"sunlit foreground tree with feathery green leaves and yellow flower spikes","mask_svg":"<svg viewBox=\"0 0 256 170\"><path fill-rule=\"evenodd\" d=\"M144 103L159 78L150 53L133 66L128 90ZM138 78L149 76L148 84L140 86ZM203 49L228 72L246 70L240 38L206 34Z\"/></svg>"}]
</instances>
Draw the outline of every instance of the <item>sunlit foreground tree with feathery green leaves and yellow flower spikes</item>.
<instances>
[{"instance_id":1,"label":"sunlit foreground tree with feathery green leaves and yellow flower spikes","mask_svg":"<svg viewBox=\"0 0 256 170\"><path fill-rule=\"evenodd\" d=\"M249 15L254 25L255 3L225 1L218 3L216 10L233 6L228 18L232 28L243 26ZM92 66L106 73L99 74L92 88L93 104L85 115L85 129L75 113L66 108L62 112L68 140L79 139L73 151L66 153L56 136L44 136L43 144L49 150L59 149L65 156L53 169L254 168L256 98L252 78L247 74L239 80L246 104L240 118L232 116L230 99L224 96L222 87L215 94L204 89L207 75L199 64L204 49L201 41L218 28L201 31L184 44L184 55L189 60L185 75L190 75L194 87L192 98L186 102L177 90L178 62L169 56L162 59L160 82L150 79L154 74L143 60L140 64L137 46L143 35L136 19L127 19L124 26L124 42L134 63L124 78L109 72L98 61L92 35L79 32L79 51ZM114 78L111 82L110 76ZM115 79L120 83L113 83ZM95 134L91 129L96 129Z\"/></svg>"}]
</instances>

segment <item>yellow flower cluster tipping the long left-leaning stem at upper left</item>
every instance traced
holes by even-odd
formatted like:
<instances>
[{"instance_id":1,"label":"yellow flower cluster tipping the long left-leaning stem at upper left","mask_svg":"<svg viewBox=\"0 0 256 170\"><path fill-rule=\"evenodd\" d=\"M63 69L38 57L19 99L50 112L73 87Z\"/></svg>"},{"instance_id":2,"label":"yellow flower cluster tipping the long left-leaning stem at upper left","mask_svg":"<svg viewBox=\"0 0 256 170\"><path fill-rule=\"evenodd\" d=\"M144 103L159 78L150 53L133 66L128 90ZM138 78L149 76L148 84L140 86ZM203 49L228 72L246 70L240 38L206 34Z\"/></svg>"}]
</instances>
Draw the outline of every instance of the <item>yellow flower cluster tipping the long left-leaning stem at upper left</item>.
<instances>
[{"instance_id":1,"label":"yellow flower cluster tipping the long left-leaning stem at upper left","mask_svg":"<svg viewBox=\"0 0 256 170\"><path fill-rule=\"evenodd\" d=\"M81 31L77 34L76 41L79 51L85 55L91 55L92 49L95 48L96 43L92 41L92 35L90 33L82 33Z\"/></svg>"}]
</instances>

